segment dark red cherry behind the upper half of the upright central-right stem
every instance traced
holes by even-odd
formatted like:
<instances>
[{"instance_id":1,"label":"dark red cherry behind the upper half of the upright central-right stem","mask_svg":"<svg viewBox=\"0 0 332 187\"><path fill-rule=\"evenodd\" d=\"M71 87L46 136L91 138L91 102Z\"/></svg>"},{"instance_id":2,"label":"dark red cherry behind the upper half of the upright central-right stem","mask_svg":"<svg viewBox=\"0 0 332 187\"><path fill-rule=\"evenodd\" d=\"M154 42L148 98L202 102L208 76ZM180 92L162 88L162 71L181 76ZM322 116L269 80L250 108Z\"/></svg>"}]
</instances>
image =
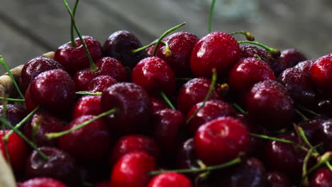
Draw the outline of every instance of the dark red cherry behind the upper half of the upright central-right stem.
<instances>
[{"instance_id":1,"label":"dark red cherry behind the upper half of the upright central-right stem","mask_svg":"<svg viewBox=\"0 0 332 187\"><path fill-rule=\"evenodd\" d=\"M196 103L204 101L210 86L211 80L206 78L195 78L187 81L187 83L181 87L177 95L177 106L179 110L186 114ZM217 86L214 88L214 91L212 91L210 99L223 99L221 91Z\"/></svg>"}]
</instances>

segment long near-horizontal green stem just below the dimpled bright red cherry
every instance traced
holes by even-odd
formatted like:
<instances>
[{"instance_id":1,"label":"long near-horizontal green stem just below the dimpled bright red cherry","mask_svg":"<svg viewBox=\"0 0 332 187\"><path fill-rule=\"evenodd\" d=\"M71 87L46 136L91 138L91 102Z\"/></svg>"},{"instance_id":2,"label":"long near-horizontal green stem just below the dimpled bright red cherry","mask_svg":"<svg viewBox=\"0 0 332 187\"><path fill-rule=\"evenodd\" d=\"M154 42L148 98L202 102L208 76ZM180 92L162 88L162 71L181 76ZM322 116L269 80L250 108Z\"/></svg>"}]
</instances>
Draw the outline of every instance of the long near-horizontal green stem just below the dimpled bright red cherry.
<instances>
[{"instance_id":1,"label":"long near-horizontal green stem just below the dimpled bright red cherry","mask_svg":"<svg viewBox=\"0 0 332 187\"><path fill-rule=\"evenodd\" d=\"M184 174L184 173L194 173L194 172L199 172L199 171L212 171L216 169L223 169L228 166L233 166L235 164L238 164L242 161L240 157L237 157L236 159L231 160L230 162L226 162L225 164L220 164L216 166L208 166L206 168L192 168L192 169L174 169L174 170L160 170L160 171L151 171L149 172L150 175L157 175L157 174L163 174L163 173L168 173L168 172L177 172L179 174Z\"/></svg>"}]
</instances>

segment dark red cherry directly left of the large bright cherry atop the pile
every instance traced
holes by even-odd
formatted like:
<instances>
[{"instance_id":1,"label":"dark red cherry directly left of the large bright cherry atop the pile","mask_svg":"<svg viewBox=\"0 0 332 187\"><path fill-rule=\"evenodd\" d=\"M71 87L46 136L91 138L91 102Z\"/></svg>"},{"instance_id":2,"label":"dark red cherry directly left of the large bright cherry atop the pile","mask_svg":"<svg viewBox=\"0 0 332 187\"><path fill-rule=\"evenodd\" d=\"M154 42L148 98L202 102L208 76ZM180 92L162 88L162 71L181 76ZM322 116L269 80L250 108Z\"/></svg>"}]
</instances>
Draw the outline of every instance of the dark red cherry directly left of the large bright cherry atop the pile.
<instances>
[{"instance_id":1,"label":"dark red cherry directly left of the large bright cherry atop the pile","mask_svg":"<svg viewBox=\"0 0 332 187\"><path fill-rule=\"evenodd\" d=\"M162 60L165 60L165 62L169 64L175 72L177 77L189 76L191 74L190 57L192 55L194 45L198 40L199 38L197 35L192 33L183 31L174 33L164 40L170 46L172 55L167 57L167 55L164 54L165 45L160 44L156 56L160 57Z\"/></svg>"}]
</instances>

